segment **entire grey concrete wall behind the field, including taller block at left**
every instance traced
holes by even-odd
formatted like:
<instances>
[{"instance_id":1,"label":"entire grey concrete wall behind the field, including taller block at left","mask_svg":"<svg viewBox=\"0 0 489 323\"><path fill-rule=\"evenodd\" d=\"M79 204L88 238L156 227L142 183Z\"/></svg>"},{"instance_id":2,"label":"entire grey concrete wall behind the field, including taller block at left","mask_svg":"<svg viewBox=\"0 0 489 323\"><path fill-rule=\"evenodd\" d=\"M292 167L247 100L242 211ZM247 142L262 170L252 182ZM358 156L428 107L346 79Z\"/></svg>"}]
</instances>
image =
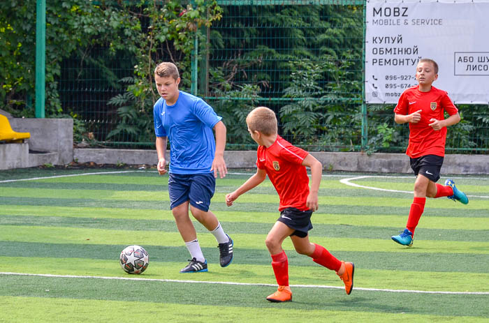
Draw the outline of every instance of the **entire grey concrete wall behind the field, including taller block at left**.
<instances>
[{"instance_id":1,"label":"entire grey concrete wall behind the field, including taller block at left","mask_svg":"<svg viewBox=\"0 0 489 323\"><path fill-rule=\"evenodd\" d=\"M47 163L156 165L155 149L73 149L72 119L10 119L15 131L29 132L24 144L0 144L0 170L34 167ZM29 153L43 151L45 153ZM346 172L411 173L404 153L328 153L312 152L325 170ZM226 151L228 168L254 168L255 151ZM489 155L446 155L442 174L489 174Z\"/></svg>"}]
</instances>

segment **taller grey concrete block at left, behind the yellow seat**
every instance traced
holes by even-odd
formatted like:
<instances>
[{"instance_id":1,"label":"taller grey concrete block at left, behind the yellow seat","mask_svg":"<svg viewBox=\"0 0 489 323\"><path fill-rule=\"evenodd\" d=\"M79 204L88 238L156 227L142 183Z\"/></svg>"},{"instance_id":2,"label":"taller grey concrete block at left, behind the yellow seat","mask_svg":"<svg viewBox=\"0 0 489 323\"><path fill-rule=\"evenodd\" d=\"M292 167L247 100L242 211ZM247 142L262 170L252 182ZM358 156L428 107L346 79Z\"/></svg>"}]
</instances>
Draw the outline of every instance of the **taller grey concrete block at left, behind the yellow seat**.
<instances>
[{"instance_id":1,"label":"taller grey concrete block at left, behind the yellow seat","mask_svg":"<svg viewBox=\"0 0 489 323\"><path fill-rule=\"evenodd\" d=\"M10 119L10 126L20 133L31 133L29 149L57 153L49 163L65 165L73 160L73 119ZM41 164L43 165L43 164Z\"/></svg>"}]
</instances>

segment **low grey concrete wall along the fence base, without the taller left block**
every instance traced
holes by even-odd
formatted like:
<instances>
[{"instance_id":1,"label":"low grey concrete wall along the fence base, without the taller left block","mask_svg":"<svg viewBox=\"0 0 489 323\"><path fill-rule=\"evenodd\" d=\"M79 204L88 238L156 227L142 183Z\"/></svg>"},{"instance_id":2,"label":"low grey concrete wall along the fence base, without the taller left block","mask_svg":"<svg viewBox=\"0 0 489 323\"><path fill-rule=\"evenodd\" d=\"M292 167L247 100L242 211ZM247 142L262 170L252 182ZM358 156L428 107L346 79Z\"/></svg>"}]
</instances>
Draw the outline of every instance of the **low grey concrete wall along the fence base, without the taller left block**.
<instances>
[{"instance_id":1,"label":"low grey concrete wall along the fence base, without the taller left block","mask_svg":"<svg viewBox=\"0 0 489 323\"><path fill-rule=\"evenodd\" d=\"M168 153L167 153L168 154ZM312 152L326 170L346 172L412 173L404 153L328 153ZM156 150L74 149L79 163L156 165ZM254 168L255 151L226 151L228 168ZM446 155L442 174L489 174L488 155Z\"/></svg>"}]
</instances>

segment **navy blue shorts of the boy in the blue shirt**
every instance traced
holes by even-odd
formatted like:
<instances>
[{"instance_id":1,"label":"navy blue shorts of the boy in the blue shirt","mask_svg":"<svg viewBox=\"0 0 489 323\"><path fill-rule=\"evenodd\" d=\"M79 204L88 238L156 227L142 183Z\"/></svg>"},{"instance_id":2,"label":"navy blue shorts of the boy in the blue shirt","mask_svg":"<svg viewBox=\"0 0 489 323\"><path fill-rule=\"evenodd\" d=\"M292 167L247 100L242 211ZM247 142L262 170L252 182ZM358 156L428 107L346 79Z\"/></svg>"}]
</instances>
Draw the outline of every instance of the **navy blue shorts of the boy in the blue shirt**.
<instances>
[{"instance_id":1,"label":"navy blue shorts of the boy in the blue shirt","mask_svg":"<svg viewBox=\"0 0 489 323\"><path fill-rule=\"evenodd\" d=\"M170 209L190 201L192 206L204 212L209 211L210 199L214 196L216 179L208 174L169 174L168 194Z\"/></svg>"}]
</instances>

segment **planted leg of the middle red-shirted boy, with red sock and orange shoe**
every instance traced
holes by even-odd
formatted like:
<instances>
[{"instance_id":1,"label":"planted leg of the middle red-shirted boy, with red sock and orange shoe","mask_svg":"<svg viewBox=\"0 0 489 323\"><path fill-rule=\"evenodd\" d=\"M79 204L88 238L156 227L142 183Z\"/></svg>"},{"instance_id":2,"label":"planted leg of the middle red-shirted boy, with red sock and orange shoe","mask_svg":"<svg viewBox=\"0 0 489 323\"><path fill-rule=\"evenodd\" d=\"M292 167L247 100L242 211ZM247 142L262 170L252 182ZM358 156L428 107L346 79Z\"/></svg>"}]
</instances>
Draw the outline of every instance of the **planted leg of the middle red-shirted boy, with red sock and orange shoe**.
<instances>
[{"instance_id":1,"label":"planted leg of the middle red-shirted boy, with red sock and orange shoe","mask_svg":"<svg viewBox=\"0 0 489 323\"><path fill-rule=\"evenodd\" d=\"M282 302L292 300L292 292L289 287L289 260L282 249L282 242L294 231L284 223L277 221L265 239L265 244L272 257L272 268L275 273L275 279L279 285L277 292L267 297L268 301Z\"/></svg>"}]
</instances>

